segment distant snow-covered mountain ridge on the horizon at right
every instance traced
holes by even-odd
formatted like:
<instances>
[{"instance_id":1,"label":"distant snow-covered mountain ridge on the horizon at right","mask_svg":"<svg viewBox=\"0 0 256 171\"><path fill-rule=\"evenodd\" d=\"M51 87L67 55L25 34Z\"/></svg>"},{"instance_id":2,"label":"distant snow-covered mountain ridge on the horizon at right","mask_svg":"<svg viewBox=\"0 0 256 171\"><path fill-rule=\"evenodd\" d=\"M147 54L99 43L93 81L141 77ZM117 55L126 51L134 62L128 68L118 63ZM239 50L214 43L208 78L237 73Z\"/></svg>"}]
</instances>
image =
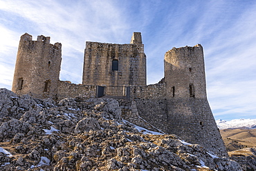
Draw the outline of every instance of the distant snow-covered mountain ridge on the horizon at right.
<instances>
[{"instance_id":1,"label":"distant snow-covered mountain ridge on the horizon at right","mask_svg":"<svg viewBox=\"0 0 256 171\"><path fill-rule=\"evenodd\" d=\"M222 119L218 119L216 123L220 130L228 128L256 129L256 119L233 119L231 121L224 121Z\"/></svg>"}]
</instances>

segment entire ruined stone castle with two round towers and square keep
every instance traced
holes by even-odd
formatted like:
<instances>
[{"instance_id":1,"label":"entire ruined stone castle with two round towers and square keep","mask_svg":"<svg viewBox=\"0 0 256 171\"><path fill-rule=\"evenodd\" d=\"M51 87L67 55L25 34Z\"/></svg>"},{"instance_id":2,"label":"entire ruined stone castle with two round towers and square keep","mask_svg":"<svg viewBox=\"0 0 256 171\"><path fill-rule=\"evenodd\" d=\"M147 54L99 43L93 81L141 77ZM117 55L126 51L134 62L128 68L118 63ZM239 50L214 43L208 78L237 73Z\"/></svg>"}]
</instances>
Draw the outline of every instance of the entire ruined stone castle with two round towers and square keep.
<instances>
[{"instance_id":1,"label":"entire ruined stone castle with two round towers and square keep","mask_svg":"<svg viewBox=\"0 0 256 171\"><path fill-rule=\"evenodd\" d=\"M226 148L208 104L203 48L172 48L165 53L165 77L146 85L146 55L140 32L128 44L86 42L82 84L60 81L62 44L50 37L21 36L12 91L37 98L108 97L129 103L125 119L177 134L215 154ZM126 107L123 106L124 109ZM136 119L134 119L134 116Z\"/></svg>"}]
</instances>

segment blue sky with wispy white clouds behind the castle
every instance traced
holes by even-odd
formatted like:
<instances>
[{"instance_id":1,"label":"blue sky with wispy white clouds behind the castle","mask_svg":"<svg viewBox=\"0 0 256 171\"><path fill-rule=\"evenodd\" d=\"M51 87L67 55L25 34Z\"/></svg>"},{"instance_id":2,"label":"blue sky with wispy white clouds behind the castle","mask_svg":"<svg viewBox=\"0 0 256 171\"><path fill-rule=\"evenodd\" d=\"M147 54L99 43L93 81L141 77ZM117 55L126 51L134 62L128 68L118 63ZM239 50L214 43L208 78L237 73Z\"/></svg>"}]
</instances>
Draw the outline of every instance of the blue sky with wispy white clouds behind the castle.
<instances>
[{"instance_id":1,"label":"blue sky with wispy white clouds behind the castle","mask_svg":"<svg viewBox=\"0 0 256 171\"><path fill-rule=\"evenodd\" d=\"M129 43L141 32L147 83L173 47L200 43L215 119L256 118L256 1L0 0L0 88L11 89L19 38L62 43L61 80L82 83L85 41Z\"/></svg>"}]
</instances>

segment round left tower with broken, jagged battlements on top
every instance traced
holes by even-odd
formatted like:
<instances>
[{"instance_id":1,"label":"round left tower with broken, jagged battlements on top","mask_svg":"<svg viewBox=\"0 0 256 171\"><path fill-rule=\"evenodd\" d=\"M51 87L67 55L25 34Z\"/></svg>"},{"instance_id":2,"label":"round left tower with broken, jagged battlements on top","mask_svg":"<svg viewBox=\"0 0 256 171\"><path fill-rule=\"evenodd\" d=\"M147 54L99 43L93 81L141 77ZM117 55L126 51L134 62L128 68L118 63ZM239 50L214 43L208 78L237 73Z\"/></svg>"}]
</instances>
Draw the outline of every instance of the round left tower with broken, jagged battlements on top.
<instances>
[{"instance_id":1,"label":"round left tower with broken, jagged battlements on top","mask_svg":"<svg viewBox=\"0 0 256 171\"><path fill-rule=\"evenodd\" d=\"M62 44L50 43L50 37L32 40L24 34L19 41L12 92L37 98L55 98L60 77Z\"/></svg>"}]
</instances>

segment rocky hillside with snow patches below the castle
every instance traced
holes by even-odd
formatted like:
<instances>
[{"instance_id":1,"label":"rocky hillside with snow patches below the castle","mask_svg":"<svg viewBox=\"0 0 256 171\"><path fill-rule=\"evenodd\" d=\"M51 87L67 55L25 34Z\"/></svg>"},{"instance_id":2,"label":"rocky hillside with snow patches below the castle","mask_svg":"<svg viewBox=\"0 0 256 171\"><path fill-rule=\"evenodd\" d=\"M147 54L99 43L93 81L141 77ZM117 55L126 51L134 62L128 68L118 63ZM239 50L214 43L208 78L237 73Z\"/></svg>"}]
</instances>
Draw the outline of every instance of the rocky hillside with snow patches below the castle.
<instances>
[{"instance_id":1,"label":"rocky hillside with snow patches below the castle","mask_svg":"<svg viewBox=\"0 0 256 171\"><path fill-rule=\"evenodd\" d=\"M0 89L0 170L242 170L123 120L115 99L33 99Z\"/></svg>"}]
</instances>

